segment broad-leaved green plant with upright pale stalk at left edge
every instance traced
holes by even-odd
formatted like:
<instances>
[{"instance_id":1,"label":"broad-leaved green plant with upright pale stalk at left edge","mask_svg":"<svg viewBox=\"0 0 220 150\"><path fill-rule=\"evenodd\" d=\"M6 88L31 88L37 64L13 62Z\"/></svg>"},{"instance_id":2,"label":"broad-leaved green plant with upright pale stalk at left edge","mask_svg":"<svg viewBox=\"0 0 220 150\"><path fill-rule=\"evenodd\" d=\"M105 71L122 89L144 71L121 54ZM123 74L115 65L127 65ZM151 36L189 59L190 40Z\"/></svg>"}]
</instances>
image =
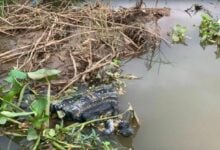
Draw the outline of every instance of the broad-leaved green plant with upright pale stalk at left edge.
<instances>
[{"instance_id":1,"label":"broad-leaved green plant with upright pale stalk at left edge","mask_svg":"<svg viewBox=\"0 0 220 150\"><path fill-rule=\"evenodd\" d=\"M17 69L9 72L5 81L10 85L10 88L3 91L0 90L0 124L4 125L7 121L11 121L22 126L23 123L16 120L18 117L28 117L27 124L29 130L27 131L27 140L36 140L33 149L36 149L39 142L42 130L49 128L50 115L50 80L59 74L59 70L40 69L35 72L25 73ZM30 105L31 111L26 112L19 106L23 99L24 91L27 88L29 80L43 80L45 79L48 85L47 96L36 96L36 99ZM16 104L16 97L18 98L18 106Z\"/></svg>"}]
</instances>

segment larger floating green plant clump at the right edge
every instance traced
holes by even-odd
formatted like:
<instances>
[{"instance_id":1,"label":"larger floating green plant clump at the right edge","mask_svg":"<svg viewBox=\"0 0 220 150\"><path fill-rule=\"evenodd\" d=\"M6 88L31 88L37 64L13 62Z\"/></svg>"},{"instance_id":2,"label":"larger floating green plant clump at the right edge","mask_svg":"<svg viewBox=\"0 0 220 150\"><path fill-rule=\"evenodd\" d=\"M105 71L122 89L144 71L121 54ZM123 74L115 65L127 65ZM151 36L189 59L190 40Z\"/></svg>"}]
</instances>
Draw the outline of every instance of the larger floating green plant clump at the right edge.
<instances>
[{"instance_id":1,"label":"larger floating green plant clump at the right edge","mask_svg":"<svg viewBox=\"0 0 220 150\"><path fill-rule=\"evenodd\" d=\"M217 45L216 57L220 57L220 20L213 19L208 14L202 14L199 26L200 44L203 48L207 45Z\"/></svg>"}]
</instances>

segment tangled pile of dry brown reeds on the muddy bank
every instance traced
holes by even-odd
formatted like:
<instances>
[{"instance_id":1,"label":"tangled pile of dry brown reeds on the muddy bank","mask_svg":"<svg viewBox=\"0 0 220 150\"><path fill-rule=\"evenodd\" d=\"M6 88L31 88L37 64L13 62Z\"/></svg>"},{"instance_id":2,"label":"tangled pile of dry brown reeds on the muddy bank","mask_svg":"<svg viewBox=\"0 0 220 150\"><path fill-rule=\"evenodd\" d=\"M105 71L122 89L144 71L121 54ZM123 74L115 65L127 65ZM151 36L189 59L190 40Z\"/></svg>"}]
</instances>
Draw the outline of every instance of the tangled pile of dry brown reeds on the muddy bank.
<instances>
[{"instance_id":1,"label":"tangled pile of dry brown reeds on the muddy bank","mask_svg":"<svg viewBox=\"0 0 220 150\"><path fill-rule=\"evenodd\" d=\"M112 62L154 50L161 38L157 20L169 9L133 7L118 11L96 4L54 12L44 7L7 7L0 18L2 37L14 46L0 48L0 71L56 68L60 91ZM10 44L10 43L9 43Z\"/></svg>"}]
</instances>

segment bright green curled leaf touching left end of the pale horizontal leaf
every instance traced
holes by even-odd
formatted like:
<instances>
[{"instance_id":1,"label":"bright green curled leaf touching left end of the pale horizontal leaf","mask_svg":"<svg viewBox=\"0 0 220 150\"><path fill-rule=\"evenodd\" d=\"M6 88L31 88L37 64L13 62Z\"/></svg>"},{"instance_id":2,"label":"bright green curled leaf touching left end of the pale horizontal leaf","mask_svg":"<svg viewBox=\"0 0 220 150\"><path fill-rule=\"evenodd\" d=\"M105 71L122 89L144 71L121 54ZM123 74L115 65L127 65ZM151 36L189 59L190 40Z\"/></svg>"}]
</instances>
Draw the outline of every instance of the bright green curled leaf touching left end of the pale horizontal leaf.
<instances>
[{"instance_id":1,"label":"bright green curled leaf touching left end of the pale horizontal leaf","mask_svg":"<svg viewBox=\"0 0 220 150\"><path fill-rule=\"evenodd\" d=\"M13 69L9 72L8 77L5 80L9 83L13 83L14 79L27 79L27 74L20 70Z\"/></svg>"}]
</instances>

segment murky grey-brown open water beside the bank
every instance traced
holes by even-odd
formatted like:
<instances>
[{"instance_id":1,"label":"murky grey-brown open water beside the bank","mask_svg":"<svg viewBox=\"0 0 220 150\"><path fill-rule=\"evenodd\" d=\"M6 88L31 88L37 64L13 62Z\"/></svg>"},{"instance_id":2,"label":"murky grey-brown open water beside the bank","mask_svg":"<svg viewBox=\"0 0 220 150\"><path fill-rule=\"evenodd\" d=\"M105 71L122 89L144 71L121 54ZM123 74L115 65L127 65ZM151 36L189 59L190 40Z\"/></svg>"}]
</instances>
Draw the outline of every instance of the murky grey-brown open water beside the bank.
<instances>
[{"instance_id":1,"label":"murky grey-brown open water beside the bank","mask_svg":"<svg viewBox=\"0 0 220 150\"><path fill-rule=\"evenodd\" d=\"M220 16L215 1L200 2ZM136 109L141 128L133 139L134 149L147 150L219 150L220 149L220 60L215 59L216 46L205 50L199 45L200 14L190 17L182 10L192 1L165 3L174 8L171 16L160 20L162 36L167 37L174 25L187 26L184 45L161 44L162 58L172 64L145 67L146 60L134 59L124 67L127 73L142 77L129 81L127 94L121 98ZM213 5L214 4L214 5ZM144 57L145 58L145 57Z\"/></svg>"}]
</instances>

